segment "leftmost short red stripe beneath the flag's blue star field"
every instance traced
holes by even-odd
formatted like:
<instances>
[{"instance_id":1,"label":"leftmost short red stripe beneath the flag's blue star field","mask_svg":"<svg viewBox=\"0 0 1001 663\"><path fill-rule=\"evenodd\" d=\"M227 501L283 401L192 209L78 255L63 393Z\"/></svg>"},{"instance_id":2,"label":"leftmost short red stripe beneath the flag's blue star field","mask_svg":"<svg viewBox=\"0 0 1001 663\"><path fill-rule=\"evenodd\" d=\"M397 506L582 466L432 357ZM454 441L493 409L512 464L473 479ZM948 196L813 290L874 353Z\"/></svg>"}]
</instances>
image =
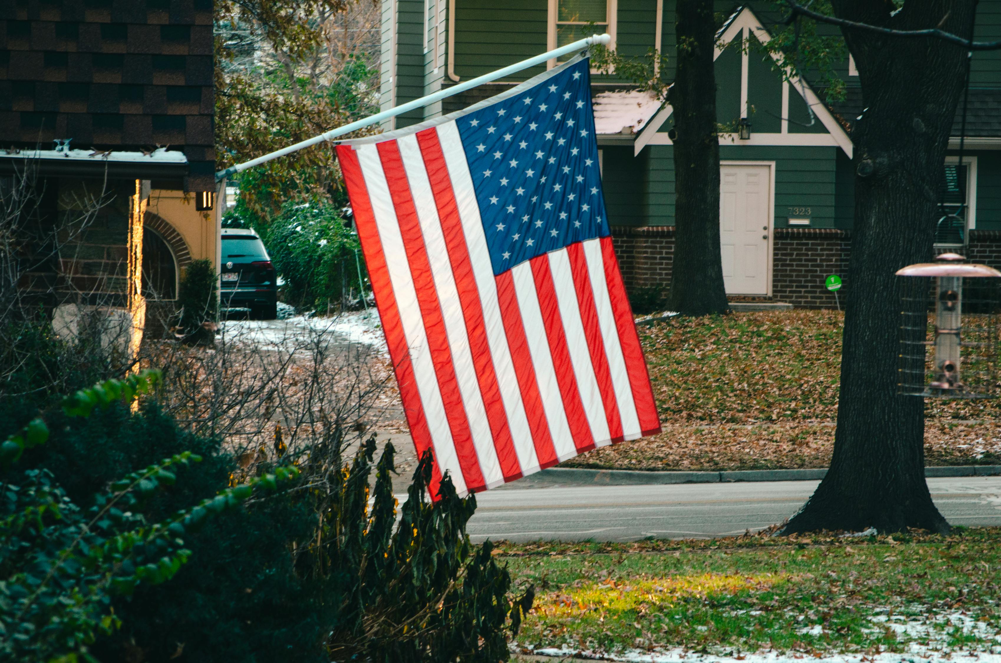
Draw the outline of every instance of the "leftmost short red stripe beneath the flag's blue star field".
<instances>
[{"instance_id":1,"label":"leftmost short red stripe beneath the flag's blue star field","mask_svg":"<svg viewBox=\"0 0 1001 663\"><path fill-rule=\"evenodd\" d=\"M494 276L497 284L497 303L500 306L500 318L508 337L508 348L511 359L515 363L515 375L518 376L518 386L522 391L522 403L525 404L525 414L529 418L532 429L532 442L539 457L539 466L543 470L552 467L560 460L557 449L550 435L550 425L546 421L546 410L543 408L543 397L539 394L539 382L536 380L536 369L532 366L532 354L529 351L529 340L525 337L525 323L522 321L522 309L518 306L518 295L515 293L515 279L511 269Z\"/></svg>"}]
</instances>

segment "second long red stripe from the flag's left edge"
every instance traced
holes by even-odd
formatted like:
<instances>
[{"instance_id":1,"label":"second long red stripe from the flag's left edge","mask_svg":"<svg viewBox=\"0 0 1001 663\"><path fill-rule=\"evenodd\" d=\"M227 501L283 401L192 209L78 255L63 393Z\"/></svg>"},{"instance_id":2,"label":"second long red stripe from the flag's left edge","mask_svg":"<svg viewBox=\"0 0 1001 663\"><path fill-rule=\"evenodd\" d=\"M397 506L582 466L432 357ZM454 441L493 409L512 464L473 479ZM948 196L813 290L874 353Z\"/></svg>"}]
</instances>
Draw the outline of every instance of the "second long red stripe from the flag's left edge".
<instances>
[{"instance_id":1,"label":"second long red stripe from the flag's left edge","mask_svg":"<svg viewBox=\"0 0 1001 663\"><path fill-rule=\"evenodd\" d=\"M451 431L452 444L458 465L462 469L465 486L470 493L486 488L479 459L469 430L469 421L465 416L461 394L458 391L458 381L455 379L455 368L452 364L451 351L444 329L444 319L441 315L441 305L434 287L434 278L427 261L427 250L424 247L423 234L420 232L420 221L417 210L413 206L413 197L406 179L406 170L399 156L399 147L395 140L377 143L382 170L385 172L386 183L389 185L389 195L399 222L399 232L406 249L406 260L409 263L410 275L413 277L413 288L417 292L417 303L420 305L420 315L423 318L427 334L427 349L434 365L441 402L444 404L445 416L448 419L448 429Z\"/></svg>"}]
</instances>

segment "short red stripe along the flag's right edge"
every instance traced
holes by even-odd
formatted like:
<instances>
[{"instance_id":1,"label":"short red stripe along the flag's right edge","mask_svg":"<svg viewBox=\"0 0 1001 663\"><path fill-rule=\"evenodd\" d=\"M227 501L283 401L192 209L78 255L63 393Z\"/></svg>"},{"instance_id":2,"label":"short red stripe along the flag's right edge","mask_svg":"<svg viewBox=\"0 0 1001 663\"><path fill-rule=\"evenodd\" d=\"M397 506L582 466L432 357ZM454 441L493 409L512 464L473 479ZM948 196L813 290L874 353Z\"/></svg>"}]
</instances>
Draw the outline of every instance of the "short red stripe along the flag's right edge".
<instances>
[{"instance_id":1,"label":"short red stripe along the flag's right edge","mask_svg":"<svg viewBox=\"0 0 1001 663\"><path fill-rule=\"evenodd\" d=\"M629 297L626 296L626 285L619 271L619 261L612 246L612 237L602 237L602 262L605 264L605 280L609 284L612 312L616 318L616 327L619 329L619 343L622 345L623 359L626 360L626 372L629 374L629 384L633 388L633 401L636 403L640 430L643 435L654 435L661 432L661 420L657 415L654 390L650 386L650 374L647 372L647 361L643 357L640 337L636 333L633 308L629 305Z\"/></svg>"}]
</instances>

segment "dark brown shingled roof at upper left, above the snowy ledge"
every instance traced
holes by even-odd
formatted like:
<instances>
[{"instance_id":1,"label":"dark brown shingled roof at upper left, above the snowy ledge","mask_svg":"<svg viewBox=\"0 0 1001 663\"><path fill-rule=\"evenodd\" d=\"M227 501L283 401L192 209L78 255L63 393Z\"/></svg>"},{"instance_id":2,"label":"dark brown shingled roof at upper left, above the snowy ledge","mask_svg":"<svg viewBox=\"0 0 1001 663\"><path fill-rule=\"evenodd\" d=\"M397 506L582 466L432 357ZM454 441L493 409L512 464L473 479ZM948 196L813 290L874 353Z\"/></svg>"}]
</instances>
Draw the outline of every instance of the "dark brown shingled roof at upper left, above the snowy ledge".
<instances>
[{"instance_id":1,"label":"dark brown shingled roof at upper left, above the snowy ledge","mask_svg":"<svg viewBox=\"0 0 1001 663\"><path fill-rule=\"evenodd\" d=\"M0 1L0 147L187 157L214 189L212 0Z\"/></svg>"}]
</instances>

